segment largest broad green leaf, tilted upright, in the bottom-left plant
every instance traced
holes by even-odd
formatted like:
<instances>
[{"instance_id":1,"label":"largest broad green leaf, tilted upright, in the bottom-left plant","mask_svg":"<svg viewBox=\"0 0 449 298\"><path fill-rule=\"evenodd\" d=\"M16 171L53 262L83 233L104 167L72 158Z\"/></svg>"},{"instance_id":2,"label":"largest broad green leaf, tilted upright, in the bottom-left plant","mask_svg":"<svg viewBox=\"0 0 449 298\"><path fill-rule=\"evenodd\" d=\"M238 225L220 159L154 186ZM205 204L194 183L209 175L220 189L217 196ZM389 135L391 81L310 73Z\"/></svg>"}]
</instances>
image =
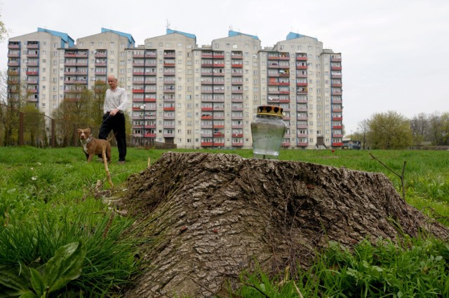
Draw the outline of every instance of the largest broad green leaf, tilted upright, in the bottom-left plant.
<instances>
[{"instance_id":1,"label":"largest broad green leaf, tilted upright, in the bottom-left plant","mask_svg":"<svg viewBox=\"0 0 449 298\"><path fill-rule=\"evenodd\" d=\"M58 248L55 256L45 264L44 285L48 293L60 290L70 281L79 278L86 257L86 247L81 241Z\"/></svg>"}]
</instances>

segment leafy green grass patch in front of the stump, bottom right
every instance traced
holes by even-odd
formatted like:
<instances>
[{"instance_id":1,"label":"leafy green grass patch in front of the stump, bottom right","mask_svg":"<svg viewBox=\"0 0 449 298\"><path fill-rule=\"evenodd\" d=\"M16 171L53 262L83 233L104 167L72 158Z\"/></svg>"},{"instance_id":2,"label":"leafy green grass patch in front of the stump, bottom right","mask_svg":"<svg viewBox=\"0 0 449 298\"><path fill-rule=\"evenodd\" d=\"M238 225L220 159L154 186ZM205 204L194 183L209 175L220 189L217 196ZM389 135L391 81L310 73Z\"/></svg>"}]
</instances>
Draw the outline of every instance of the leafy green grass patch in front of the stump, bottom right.
<instances>
[{"instance_id":1,"label":"leafy green grass patch in front of the stump, bottom right","mask_svg":"<svg viewBox=\"0 0 449 298\"><path fill-rule=\"evenodd\" d=\"M449 245L438 239L379 239L353 252L330 243L314 265L290 278L243 274L237 297L448 297Z\"/></svg>"}]
</instances>

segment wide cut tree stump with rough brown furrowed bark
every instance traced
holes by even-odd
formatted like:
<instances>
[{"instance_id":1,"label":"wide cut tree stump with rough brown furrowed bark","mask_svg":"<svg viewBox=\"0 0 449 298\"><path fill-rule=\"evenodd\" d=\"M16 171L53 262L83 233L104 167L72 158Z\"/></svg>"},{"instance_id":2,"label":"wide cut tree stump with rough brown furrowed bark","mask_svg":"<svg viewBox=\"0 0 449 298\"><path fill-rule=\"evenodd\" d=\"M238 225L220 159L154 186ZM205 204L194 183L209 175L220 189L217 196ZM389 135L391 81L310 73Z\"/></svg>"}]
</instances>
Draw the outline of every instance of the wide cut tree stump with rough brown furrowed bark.
<instances>
[{"instance_id":1,"label":"wide cut tree stump with rough brown furrowed bark","mask_svg":"<svg viewBox=\"0 0 449 298\"><path fill-rule=\"evenodd\" d=\"M128 178L116 205L138 215L149 266L126 297L213 297L257 266L307 269L328 241L448 229L403 203L382 173L238 155L167 152Z\"/></svg>"}]
</instances>

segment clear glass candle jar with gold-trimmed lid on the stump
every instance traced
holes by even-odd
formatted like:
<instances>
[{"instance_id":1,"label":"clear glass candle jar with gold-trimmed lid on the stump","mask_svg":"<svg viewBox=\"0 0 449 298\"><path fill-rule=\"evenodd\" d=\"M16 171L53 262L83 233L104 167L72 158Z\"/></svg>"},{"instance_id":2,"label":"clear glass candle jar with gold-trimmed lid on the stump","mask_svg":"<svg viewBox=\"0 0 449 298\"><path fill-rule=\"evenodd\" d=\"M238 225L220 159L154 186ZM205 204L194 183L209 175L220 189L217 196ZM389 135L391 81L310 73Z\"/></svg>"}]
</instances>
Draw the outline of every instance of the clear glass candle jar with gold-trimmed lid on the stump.
<instances>
[{"instance_id":1,"label":"clear glass candle jar with gold-trimmed lid on the stump","mask_svg":"<svg viewBox=\"0 0 449 298\"><path fill-rule=\"evenodd\" d=\"M279 106L257 107L257 115L251 122L253 157L279 159L279 150L287 130L282 118L283 108Z\"/></svg>"}]
</instances>

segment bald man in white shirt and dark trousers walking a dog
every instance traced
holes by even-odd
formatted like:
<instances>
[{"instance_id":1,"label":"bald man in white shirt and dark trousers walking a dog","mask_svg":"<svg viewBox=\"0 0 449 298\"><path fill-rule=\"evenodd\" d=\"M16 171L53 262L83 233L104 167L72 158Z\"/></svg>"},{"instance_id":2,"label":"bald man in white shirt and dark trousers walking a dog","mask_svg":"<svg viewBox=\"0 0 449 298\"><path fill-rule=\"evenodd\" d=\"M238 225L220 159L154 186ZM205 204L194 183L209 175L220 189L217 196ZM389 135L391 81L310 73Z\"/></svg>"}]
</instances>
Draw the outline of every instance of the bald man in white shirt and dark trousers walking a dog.
<instances>
[{"instance_id":1,"label":"bald man in white shirt and dark trousers walking a dog","mask_svg":"<svg viewBox=\"0 0 449 298\"><path fill-rule=\"evenodd\" d=\"M119 164L124 164L126 161L125 111L128 105L128 97L126 90L117 86L116 76L107 76L107 84L109 89L106 90L103 122L98 133L98 139L106 140L112 130L119 149Z\"/></svg>"}]
</instances>

